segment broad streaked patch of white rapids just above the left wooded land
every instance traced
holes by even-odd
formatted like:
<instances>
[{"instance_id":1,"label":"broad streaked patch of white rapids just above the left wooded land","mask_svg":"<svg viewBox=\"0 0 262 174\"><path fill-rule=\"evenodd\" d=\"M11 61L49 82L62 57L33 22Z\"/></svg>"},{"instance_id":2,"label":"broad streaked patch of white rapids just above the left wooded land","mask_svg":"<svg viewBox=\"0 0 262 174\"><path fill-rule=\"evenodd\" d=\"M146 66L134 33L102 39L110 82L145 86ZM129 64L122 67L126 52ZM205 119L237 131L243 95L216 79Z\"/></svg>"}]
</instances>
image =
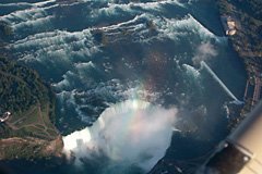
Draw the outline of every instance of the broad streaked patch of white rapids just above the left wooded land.
<instances>
[{"instance_id":1,"label":"broad streaked patch of white rapids just above the left wooded land","mask_svg":"<svg viewBox=\"0 0 262 174\"><path fill-rule=\"evenodd\" d=\"M25 39L15 41L9 46L17 52L31 50L23 61L44 61L59 57L64 61L70 61L74 57L91 57L99 52L99 48L94 45L90 29L69 33L66 30L55 30L28 36Z\"/></svg>"}]
</instances>

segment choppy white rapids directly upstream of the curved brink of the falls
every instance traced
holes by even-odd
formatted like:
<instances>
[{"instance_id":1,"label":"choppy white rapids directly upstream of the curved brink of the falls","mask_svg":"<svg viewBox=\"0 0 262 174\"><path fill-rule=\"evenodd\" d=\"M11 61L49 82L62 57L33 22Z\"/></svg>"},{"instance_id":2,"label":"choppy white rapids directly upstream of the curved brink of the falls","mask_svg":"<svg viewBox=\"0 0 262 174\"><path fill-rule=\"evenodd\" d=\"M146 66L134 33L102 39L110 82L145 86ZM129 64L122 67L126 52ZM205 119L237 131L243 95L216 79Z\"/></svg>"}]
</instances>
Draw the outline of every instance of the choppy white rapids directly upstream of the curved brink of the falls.
<instances>
[{"instance_id":1,"label":"choppy white rapids directly upstream of the curved brink of the falls","mask_svg":"<svg viewBox=\"0 0 262 174\"><path fill-rule=\"evenodd\" d=\"M82 90L74 89L74 80L85 82L83 84L85 87ZM81 121L93 123L100 114L100 111L116 101L140 98L154 103L159 98L158 92L147 91L139 83L123 85L119 79L110 79L95 85L91 84L93 83L80 79L78 74L71 72L68 72L64 79L60 83L52 84L52 87L58 91L57 98L62 105L61 111L64 111L66 108L72 108ZM99 105L96 103L97 100ZM83 109L87 109L92 113L87 114L83 112Z\"/></svg>"}]
</instances>

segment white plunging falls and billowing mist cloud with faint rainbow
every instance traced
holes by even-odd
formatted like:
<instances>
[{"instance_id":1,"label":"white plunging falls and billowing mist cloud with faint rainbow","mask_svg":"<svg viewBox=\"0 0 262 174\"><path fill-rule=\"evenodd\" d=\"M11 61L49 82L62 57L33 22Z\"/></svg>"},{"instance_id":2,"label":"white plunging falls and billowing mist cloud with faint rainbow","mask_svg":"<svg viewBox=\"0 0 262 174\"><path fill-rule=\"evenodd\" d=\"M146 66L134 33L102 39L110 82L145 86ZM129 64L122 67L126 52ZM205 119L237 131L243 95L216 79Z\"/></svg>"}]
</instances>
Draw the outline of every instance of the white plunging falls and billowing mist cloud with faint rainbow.
<instances>
[{"instance_id":1,"label":"white plunging falls and billowing mist cloud with faint rainbow","mask_svg":"<svg viewBox=\"0 0 262 174\"><path fill-rule=\"evenodd\" d=\"M118 171L135 165L148 172L170 145L176 113L145 101L121 102L106 109L92 127L66 136L64 152L73 153L76 164L105 157Z\"/></svg>"}]
</instances>

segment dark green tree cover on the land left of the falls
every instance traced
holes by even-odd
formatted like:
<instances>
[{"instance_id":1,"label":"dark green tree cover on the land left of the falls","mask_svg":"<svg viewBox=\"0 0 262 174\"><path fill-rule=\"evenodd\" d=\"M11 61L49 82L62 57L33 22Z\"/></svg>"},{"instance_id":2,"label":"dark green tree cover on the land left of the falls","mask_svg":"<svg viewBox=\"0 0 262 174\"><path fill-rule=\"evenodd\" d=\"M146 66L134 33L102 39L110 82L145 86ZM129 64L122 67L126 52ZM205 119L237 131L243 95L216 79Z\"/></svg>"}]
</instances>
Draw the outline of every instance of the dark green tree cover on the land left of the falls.
<instances>
[{"instance_id":1,"label":"dark green tree cover on the land left of the falls","mask_svg":"<svg viewBox=\"0 0 262 174\"><path fill-rule=\"evenodd\" d=\"M22 113L52 95L35 71L4 57L0 57L0 112Z\"/></svg>"}]
</instances>

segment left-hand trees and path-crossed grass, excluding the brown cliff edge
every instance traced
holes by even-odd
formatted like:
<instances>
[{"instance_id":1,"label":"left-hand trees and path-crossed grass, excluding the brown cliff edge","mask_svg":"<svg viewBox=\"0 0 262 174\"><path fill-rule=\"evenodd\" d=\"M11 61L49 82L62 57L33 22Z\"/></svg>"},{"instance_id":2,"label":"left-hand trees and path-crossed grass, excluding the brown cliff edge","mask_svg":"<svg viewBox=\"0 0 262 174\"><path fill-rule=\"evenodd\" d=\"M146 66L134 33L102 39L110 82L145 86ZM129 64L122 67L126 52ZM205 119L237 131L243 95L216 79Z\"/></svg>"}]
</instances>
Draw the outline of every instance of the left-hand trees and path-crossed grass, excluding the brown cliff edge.
<instances>
[{"instance_id":1,"label":"left-hand trees and path-crossed grass, excluding the brown cliff edge","mask_svg":"<svg viewBox=\"0 0 262 174\"><path fill-rule=\"evenodd\" d=\"M53 126L55 96L48 85L35 71L5 57L0 57L0 114L12 113L0 125L0 139L27 136L56 139L59 133Z\"/></svg>"}]
</instances>

